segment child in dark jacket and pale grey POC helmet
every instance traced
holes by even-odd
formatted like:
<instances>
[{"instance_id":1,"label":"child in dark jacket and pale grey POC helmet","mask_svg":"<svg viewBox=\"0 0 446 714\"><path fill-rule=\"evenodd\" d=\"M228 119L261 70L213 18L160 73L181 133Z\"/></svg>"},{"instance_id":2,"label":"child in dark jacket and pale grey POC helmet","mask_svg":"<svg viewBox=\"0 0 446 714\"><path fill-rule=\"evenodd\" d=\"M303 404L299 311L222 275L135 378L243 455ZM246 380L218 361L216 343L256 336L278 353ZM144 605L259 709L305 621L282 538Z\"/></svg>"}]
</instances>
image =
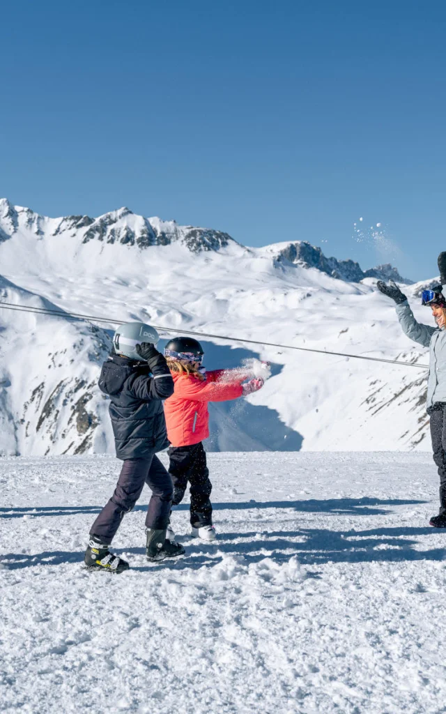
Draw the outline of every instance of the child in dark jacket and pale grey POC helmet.
<instances>
[{"instance_id":1,"label":"child in dark jacket and pale grey POC helmet","mask_svg":"<svg viewBox=\"0 0 446 714\"><path fill-rule=\"evenodd\" d=\"M90 570L121 573L126 560L108 546L125 513L135 506L144 483L152 496L146 516L146 555L162 560L182 555L184 548L166 539L173 487L171 477L156 456L168 446L162 400L173 393L173 379L164 356L154 343L158 333L144 323L121 326L113 337L113 351L103 363L99 388L110 397L109 413L116 456L123 461L110 501L91 526L85 563Z\"/></svg>"}]
</instances>

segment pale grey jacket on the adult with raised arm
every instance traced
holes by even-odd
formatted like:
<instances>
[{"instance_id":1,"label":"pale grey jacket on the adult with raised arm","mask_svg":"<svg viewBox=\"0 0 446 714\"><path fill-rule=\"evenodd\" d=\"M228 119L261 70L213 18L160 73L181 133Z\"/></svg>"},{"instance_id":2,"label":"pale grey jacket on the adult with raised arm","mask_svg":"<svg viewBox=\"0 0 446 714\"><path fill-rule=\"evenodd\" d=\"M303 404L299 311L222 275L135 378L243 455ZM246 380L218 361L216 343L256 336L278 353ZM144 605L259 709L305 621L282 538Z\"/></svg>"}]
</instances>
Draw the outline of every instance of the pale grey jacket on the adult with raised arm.
<instances>
[{"instance_id":1,"label":"pale grey jacket on the adult with raised arm","mask_svg":"<svg viewBox=\"0 0 446 714\"><path fill-rule=\"evenodd\" d=\"M446 402L446 330L422 325L415 320L407 300L396 306L402 331L411 340L430 348L427 380L427 409L435 402Z\"/></svg>"}]
</instances>

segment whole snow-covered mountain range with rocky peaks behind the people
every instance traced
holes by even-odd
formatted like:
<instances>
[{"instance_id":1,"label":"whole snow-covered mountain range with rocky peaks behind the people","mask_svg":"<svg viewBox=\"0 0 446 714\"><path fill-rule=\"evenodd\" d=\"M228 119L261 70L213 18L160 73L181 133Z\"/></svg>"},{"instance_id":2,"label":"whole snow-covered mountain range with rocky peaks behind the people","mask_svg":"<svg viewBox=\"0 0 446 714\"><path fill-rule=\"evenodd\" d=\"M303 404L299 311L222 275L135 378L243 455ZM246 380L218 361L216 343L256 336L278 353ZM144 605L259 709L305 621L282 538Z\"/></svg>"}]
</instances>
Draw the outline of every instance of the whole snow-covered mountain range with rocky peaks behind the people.
<instances>
[{"instance_id":1,"label":"whole snow-covered mountain range with rocky peaks behind the people","mask_svg":"<svg viewBox=\"0 0 446 714\"><path fill-rule=\"evenodd\" d=\"M86 321L0 309L0 453L112 452L107 401L96 387L113 321L141 319L163 336L192 330L269 343L427 363L400 331L376 278L304 241L246 248L227 233L144 218L47 218L0 200L0 299ZM430 312L405 291L421 321ZM173 331L173 332L172 332ZM428 448L426 372L287 348L206 341L206 363L273 362L248 400L214 405L208 448Z\"/></svg>"}]
</instances>

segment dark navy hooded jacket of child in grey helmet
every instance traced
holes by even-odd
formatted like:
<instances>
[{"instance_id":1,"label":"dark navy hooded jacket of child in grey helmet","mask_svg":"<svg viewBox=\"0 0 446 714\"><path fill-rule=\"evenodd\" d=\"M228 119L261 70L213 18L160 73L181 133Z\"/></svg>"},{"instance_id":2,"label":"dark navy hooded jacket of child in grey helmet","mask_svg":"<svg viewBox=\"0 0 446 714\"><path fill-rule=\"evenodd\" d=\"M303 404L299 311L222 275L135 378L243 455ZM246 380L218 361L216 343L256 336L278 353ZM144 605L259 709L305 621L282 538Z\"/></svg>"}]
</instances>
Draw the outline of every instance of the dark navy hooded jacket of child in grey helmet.
<instances>
[{"instance_id":1,"label":"dark navy hooded jacket of child in grey helmet","mask_svg":"<svg viewBox=\"0 0 446 714\"><path fill-rule=\"evenodd\" d=\"M111 355L103 363L99 388L111 399L118 458L149 458L169 446L161 400L173 394L173 379L162 354L148 362Z\"/></svg>"}]
</instances>

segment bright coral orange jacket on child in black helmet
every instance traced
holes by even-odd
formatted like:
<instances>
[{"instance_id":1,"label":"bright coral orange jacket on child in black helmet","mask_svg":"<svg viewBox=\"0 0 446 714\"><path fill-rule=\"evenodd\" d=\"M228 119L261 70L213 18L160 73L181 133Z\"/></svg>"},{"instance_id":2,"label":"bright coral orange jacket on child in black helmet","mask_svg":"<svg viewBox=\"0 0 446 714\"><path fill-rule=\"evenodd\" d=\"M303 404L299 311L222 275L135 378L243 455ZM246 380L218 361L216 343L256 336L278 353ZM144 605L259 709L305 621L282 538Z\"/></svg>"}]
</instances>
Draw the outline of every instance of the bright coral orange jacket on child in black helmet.
<instances>
[{"instance_id":1,"label":"bright coral orange jacket on child in black helmet","mask_svg":"<svg viewBox=\"0 0 446 714\"><path fill-rule=\"evenodd\" d=\"M167 436L172 446L191 446L209 436L208 402L228 401L242 396L241 376L236 382L220 381L224 370L194 374L171 372L175 391L164 402Z\"/></svg>"}]
</instances>

